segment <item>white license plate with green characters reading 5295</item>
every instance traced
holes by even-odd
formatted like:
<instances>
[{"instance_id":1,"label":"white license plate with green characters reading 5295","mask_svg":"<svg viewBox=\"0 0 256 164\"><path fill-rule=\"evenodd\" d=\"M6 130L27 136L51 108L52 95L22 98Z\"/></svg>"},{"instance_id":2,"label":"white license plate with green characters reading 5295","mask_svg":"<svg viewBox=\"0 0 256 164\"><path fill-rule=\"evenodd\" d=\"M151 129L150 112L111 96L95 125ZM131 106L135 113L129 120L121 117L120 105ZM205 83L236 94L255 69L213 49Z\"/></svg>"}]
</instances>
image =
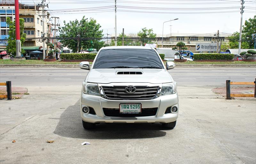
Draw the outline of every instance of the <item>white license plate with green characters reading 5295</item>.
<instances>
[{"instance_id":1,"label":"white license plate with green characters reading 5295","mask_svg":"<svg viewBox=\"0 0 256 164\"><path fill-rule=\"evenodd\" d=\"M141 104L119 104L120 113L137 114L141 113Z\"/></svg>"}]
</instances>

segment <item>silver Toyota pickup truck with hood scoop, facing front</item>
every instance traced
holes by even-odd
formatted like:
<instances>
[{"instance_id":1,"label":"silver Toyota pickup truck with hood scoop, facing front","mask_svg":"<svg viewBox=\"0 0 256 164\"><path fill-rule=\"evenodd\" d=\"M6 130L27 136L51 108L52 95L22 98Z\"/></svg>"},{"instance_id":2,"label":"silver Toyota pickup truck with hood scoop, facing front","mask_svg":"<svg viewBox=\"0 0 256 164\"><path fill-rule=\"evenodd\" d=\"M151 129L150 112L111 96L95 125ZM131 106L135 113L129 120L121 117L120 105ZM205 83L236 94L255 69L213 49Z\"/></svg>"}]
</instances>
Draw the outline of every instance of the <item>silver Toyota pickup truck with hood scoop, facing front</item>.
<instances>
[{"instance_id":1,"label":"silver Toyota pickup truck with hood scoop, facing front","mask_svg":"<svg viewBox=\"0 0 256 164\"><path fill-rule=\"evenodd\" d=\"M172 129L179 111L177 84L157 51L144 46L102 47L82 86L80 110L84 129L98 123L161 123Z\"/></svg>"}]
</instances>

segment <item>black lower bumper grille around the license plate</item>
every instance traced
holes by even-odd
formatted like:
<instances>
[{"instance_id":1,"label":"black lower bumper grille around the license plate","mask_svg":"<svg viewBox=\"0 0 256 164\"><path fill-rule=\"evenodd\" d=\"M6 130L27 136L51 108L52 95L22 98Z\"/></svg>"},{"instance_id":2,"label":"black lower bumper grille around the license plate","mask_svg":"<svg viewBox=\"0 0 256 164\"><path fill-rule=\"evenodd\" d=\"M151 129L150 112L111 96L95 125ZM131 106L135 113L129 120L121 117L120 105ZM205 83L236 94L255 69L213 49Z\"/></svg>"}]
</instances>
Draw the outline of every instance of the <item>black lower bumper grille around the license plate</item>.
<instances>
[{"instance_id":1,"label":"black lower bumper grille around the license plate","mask_svg":"<svg viewBox=\"0 0 256 164\"><path fill-rule=\"evenodd\" d=\"M118 108L103 108L105 116L108 117L143 117L143 116L154 116L157 112L156 108L142 108L141 113L136 114L121 114Z\"/></svg>"}]
</instances>

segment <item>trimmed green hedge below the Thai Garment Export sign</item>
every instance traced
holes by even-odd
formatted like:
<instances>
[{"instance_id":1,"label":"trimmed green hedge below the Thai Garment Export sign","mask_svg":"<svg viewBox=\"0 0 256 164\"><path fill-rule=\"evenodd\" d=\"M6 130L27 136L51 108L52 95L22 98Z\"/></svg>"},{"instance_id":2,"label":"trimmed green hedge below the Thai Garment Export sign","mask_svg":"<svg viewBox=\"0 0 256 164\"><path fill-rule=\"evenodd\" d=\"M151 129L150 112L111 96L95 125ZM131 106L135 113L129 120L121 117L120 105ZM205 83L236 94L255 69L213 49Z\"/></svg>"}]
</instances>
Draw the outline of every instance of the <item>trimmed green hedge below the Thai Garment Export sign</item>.
<instances>
[{"instance_id":1,"label":"trimmed green hedge below the Thai Garment Export sign","mask_svg":"<svg viewBox=\"0 0 256 164\"><path fill-rule=\"evenodd\" d=\"M194 54L195 60L233 60L234 54L201 53Z\"/></svg>"}]
</instances>

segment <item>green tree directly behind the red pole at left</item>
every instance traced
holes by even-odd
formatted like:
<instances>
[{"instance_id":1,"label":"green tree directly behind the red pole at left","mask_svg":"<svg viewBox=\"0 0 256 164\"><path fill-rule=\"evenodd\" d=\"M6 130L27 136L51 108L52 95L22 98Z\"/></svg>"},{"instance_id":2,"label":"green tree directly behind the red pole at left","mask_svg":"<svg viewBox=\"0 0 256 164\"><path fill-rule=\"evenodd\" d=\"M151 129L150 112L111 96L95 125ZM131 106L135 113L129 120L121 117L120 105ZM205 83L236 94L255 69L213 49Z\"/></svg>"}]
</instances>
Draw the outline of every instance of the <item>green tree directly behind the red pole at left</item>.
<instances>
[{"instance_id":1,"label":"green tree directly behind the red pole at left","mask_svg":"<svg viewBox=\"0 0 256 164\"><path fill-rule=\"evenodd\" d=\"M9 37L7 39L8 45L6 46L6 50L8 55L12 54L13 57L16 56L16 30L15 30L15 20L11 21L9 17L6 19L7 25L9 25ZM23 33L24 31L24 19L20 18L20 43L21 47L23 46L26 34ZM21 49L21 54L25 54L25 50Z\"/></svg>"}]
</instances>

